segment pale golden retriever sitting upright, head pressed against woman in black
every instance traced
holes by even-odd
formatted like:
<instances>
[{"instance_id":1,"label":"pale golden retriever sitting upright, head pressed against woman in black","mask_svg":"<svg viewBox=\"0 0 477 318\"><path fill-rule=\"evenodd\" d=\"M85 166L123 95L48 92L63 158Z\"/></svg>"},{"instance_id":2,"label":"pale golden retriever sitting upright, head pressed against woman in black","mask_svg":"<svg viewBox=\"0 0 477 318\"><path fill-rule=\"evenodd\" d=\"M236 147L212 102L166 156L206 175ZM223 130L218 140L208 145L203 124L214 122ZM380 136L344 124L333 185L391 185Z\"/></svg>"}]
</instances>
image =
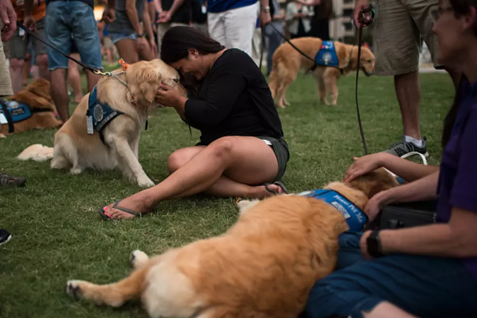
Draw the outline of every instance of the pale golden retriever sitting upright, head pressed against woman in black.
<instances>
[{"instance_id":1,"label":"pale golden retriever sitting upright, head pressed against woman in black","mask_svg":"<svg viewBox=\"0 0 477 318\"><path fill-rule=\"evenodd\" d=\"M51 168L69 168L72 174L81 173L85 168L120 168L131 182L141 187L154 186L138 161L139 137L145 129L147 113L159 106L155 96L161 83L179 90L184 96L186 91L179 83L179 73L160 59L139 61L125 65L124 69L113 71L113 76L98 81L91 112L88 112L90 95L94 90L83 97L73 115L56 132L53 148L32 145L23 150L18 159L42 161L53 158ZM101 119L110 116L104 108L99 108L97 113L99 104L109 105L110 110L119 115L102 130L90 127L88 131L87 114L91 116L94 112L94 120L99 123L96 127Z\"/></svg>"}]
</instances>

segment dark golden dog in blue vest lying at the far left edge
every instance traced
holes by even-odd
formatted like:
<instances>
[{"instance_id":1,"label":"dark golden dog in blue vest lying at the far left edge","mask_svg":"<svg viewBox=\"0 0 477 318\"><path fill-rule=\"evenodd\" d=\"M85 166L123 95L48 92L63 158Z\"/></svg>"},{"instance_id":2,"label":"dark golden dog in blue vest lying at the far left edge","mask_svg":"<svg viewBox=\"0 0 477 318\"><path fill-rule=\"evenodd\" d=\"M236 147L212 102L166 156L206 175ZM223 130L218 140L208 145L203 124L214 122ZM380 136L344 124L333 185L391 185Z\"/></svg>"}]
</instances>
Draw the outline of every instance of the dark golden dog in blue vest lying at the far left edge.
<instances>
[{"instance_id":1,"label":"dark golden dog in blue vest lying at the far left edge","mask_svg":"<svg viewBox=\"0 0 477 318\"><path fill-rule=\"evenodd\" d=\"M8 120L7 114L0 107L0 135L61 125L61 121L55 117L56 108L50 96L50 82L46 79L35 80L17 94L5 98L4 104L11 119Z\"/></svg>"}]
</instances>

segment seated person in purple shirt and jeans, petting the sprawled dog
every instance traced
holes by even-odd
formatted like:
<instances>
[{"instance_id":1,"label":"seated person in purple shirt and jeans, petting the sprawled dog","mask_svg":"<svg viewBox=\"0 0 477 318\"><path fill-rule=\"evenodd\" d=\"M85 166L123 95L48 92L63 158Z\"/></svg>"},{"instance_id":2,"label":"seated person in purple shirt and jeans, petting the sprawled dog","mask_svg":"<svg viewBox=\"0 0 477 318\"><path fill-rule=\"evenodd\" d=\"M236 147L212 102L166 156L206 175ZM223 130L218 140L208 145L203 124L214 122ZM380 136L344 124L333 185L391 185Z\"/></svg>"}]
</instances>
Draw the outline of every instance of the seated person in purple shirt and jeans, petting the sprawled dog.
<instances>
[{"instance_id":1,"label":"seated person in purple shirt and jeans, petting the sprawled dog","mask_svg":"<svg viewBox=\"0 0 477 318\"><path fill-rule=\"evenodd\" d=\"M376 153L355 158L345 182L387 168L406 183L373 196L369 218L436 200L437 223L342 234L337 270L313 286L302 317L477 317L477 1L440 0L434 18L440 63L463 74L440 166Z\"/></svg>"}]
</instances>

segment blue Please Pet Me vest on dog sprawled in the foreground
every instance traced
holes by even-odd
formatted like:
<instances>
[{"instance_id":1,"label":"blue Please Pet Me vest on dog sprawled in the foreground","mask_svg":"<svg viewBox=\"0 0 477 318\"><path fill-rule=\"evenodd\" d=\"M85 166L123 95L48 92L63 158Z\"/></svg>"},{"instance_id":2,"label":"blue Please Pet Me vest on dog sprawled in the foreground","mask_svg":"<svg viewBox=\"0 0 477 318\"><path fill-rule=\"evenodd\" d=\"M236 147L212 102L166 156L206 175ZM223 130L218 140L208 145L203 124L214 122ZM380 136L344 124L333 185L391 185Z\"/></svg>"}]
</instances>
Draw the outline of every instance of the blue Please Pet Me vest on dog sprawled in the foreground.
<instances>
[{"instance_id":1,"label":"blue Please Pet Me vest on dog sprawled in the foreground","mask_svg":"<svg viewBox=\"0 0 477 318\"><path fill-rule=\"evenodd\" d=\"M346 218L350 231L361 231L366 224L367 215L339 192L330 189L316 189L298 193L299 196L322 200L334 206Z\"/></svg>"}]
</instances>

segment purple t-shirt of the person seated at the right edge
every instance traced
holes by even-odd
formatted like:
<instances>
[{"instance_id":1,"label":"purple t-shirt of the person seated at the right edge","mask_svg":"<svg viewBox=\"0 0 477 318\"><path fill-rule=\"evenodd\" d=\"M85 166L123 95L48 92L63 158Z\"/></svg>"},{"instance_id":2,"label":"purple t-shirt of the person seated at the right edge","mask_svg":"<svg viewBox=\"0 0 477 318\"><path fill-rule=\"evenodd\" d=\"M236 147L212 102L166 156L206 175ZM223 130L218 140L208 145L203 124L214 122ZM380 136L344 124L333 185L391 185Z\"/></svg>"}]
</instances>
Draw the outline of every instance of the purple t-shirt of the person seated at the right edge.
<instances>
[{"instance_id":1,"label":"purple t-shirt of the person seated at the right edge","mask_svg":"<svg viewBox=\"0 0 477 318\"><path fill-rule=\"evenodd\" d=\"M459 114L442 152L437 221L449 222L452 207L477 213L477 83L462 83ZM477 257L462 260L477 281Z\"/></svg>"}]
</instances>

